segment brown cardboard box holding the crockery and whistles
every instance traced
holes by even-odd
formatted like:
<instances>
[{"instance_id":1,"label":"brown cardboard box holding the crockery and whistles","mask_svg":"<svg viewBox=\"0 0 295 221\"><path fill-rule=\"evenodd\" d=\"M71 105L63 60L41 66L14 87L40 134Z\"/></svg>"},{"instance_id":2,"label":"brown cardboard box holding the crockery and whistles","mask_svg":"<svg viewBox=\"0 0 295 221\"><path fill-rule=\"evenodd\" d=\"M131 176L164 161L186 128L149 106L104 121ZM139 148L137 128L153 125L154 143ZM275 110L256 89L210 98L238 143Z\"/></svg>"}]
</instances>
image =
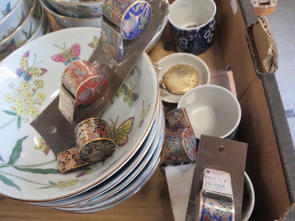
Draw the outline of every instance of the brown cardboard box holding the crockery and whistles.
<instances>
[{"instance_id":1,"label":"brown cardboard box holding the crockery and whistles","mask_svg":"<svg viewBox=\"0 0 295 221\"><path fill-rule=\"evenodd\" d=\"M212 72L229 66L233 72L242 108L237 140L248 143L246 172L255 190L250 220L276 220L295 202L295 153L275 74L257 75L255 72L245 37L246 25L256 21L250 1L216 0L216 4L214 42L199 57ZM174 53L171 42L167 24L149 53L151 59L157 62ZM134 196L103 212L69 216L64 211L35 207L5 197L0 199L0 212L3 220L60 220L61 217L67 220L173 220L166 178L159 169Z\"/></svg>"}]
</instances>

